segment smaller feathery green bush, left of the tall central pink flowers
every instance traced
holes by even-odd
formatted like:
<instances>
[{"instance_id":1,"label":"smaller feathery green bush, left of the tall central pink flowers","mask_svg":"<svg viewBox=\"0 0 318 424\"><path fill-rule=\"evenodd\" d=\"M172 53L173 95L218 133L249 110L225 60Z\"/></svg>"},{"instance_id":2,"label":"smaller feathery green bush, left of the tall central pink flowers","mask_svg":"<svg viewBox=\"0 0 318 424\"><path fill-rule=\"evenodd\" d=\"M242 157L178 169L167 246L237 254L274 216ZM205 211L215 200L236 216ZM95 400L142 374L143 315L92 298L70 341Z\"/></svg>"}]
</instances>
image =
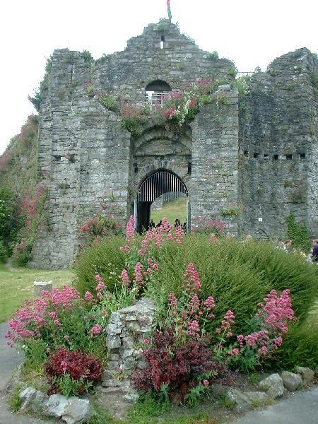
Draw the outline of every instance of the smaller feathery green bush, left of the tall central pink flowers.
<instances>
[{"instance_id":1,"label":"smaller feathery green bush, left of the tall central pink flowers","mask_svg":"<svg viewBox=\"0 0 318 424\"><path fill-rule=\"evenodd\" d=\"M95 275L98 273L112 290L117 276L125 267L126 254L119 247L125 245L124 237L102 238L95 245L88 245L75 264L76 288L84 295L86 291L95 293ZM115 273L115 274L114 274Z\"/></svg>"}]
</instances>

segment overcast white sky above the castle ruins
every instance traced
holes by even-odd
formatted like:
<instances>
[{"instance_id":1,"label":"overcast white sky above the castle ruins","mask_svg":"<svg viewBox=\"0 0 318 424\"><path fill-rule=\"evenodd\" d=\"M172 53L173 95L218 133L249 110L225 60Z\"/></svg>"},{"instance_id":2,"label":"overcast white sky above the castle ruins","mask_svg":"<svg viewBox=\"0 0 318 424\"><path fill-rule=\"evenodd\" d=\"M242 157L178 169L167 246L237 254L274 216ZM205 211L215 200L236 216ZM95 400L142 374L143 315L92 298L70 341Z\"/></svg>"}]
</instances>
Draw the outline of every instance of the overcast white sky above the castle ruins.
<instances>
[{"instance_id":1,"label":"overcast white sky above the castle ruins","mask_svg":"<svg viewBox=\"0 0 318 424\"><path fill-rule=\"evenodd\" d=\"M292 50L318 48L317 0L170 0L172 22L201 49L266 69ZM95 59L124 49L148 23L167 17L166 0L5 0L0 6L0 154L18 134L28 101L54 49L89 50Z\"/></svg>"}]
</instances>

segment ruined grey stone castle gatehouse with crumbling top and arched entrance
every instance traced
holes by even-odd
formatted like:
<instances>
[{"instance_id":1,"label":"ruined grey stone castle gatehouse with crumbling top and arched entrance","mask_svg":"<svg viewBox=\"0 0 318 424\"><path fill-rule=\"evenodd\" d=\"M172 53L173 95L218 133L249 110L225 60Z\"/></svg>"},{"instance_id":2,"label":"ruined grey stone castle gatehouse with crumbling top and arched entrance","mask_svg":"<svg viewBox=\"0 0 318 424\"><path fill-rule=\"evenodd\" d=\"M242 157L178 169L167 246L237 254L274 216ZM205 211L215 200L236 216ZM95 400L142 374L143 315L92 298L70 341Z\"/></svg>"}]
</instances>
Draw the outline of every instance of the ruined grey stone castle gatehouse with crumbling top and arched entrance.
<instances>
[{"instance_id":1,"label":"ruined grey stone castle gatehouse with crumbling top and arched entrance","mask_svg":"<svg viewBox=\"0 0 318 424\"><path fill-rule=\"evenodd\" d=\"M283 236L293 212L314 235L317 59L305 48L285 54L252 75L245 95L233 84L234 71L230 60L202 51L169 20L148 25L123 52L96 61L55 50L42 82L39 134L49 225L33 245L33 266L69 266L78 228L100 205L123 222L135 213L139 227L146 226L154 198L143 203L138 190L155 173L182 187L189 228L200 216L221 218L237 206L242 213L230 220L235 234ZM206 78L223 81L218 90L228 100L201 105L182 131L150 117L140 134L131 134L119 112L99 101L98 93L107 93L142 106ZM159 193L175 187L156 184Z\"/></svg>"}]
</instances>

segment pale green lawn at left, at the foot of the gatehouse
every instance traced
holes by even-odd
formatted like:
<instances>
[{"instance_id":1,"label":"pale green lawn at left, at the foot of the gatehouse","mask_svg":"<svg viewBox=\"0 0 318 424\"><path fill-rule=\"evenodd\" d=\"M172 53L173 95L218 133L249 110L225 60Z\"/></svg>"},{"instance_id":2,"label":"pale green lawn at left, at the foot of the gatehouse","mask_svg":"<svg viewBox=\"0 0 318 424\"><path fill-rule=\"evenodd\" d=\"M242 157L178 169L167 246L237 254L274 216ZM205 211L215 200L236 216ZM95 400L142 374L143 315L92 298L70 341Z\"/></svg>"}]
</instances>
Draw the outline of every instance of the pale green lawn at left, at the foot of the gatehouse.
<instances>
[{"instance_id":1,"label":"pale green lawn at left, at the foot of the gatehouse","mask_svg":"<svg viewBox=\"0 0 318 424\"><path fill-rule=\"evenodd\" d=\"M32 300L33 283L37 281L53 281L53 287L62 284L71 285L74 273L68 269L52 271L47 269L11 268L8 264L0 264L0 322L11 318L17 307L25 299Z\"/></svg>"}]
</instances>

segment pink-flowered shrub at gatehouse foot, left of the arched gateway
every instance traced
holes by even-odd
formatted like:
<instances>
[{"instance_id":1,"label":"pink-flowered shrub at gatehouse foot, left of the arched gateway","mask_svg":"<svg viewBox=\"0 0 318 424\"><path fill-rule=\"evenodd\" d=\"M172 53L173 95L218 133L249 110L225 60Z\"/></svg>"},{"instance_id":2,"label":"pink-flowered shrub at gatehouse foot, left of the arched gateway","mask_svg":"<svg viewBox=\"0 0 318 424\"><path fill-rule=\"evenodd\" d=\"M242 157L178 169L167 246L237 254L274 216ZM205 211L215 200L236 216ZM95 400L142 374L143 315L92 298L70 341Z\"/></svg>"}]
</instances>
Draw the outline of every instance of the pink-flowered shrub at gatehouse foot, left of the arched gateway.
<instances>
[{"instance_id":1,"label":"pink-flowered shrub at gatehouse foot, left of the arched gateway","mask_svg":"<svg viewBox=\"0 0 318 424\"><path fill-rule=\"evenodd\" d=\"M89 218L86 223L84 223L80 232L86 235L88 242L96 240L98 237L106 237L109 235L117 234L121 231L122 226L116 220L114 215L105 213L100 213L98 216Z\"/></svg>"}]
</instances>

